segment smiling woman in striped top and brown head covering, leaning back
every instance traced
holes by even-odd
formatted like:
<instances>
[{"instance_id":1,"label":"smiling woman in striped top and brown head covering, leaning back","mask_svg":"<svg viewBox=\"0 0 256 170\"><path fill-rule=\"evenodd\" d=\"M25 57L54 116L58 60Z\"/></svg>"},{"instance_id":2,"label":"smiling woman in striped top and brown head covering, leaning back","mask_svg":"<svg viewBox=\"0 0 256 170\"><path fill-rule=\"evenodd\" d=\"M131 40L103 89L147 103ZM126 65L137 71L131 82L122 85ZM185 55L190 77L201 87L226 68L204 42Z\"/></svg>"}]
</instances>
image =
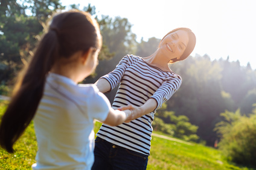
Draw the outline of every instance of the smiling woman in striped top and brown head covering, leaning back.
<instances>
[{"instance_id":1,"label":"smiling woman in striped top and brown head covering, leaning back","mask_svg":"<svg viewBox=\"0 0 256 170\"><path fill-rule=\"evenodd\" d=\"M145 58L126 55L114 71L95 83L103 93L120 83L112 108L132 109L135 120L115 127L101 126L92 169L147 168L154 114L182 82L168 64L187 58L195 44L190 29L174 29L162 38L155 53Z\"/></svg>"}]
</instances>

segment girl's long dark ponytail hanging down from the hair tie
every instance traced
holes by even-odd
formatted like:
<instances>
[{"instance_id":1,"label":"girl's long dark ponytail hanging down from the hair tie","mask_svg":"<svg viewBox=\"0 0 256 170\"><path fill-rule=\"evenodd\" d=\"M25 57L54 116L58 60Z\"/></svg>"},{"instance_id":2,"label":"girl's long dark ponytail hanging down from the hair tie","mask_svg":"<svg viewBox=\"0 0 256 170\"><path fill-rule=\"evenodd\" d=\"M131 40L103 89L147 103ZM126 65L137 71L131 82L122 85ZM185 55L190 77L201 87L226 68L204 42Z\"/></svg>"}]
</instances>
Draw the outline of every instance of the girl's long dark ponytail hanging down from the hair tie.
<instances>
[{"instance_id":1,"label":"girl's long dark ponytail hanging down from the hair tie","mask_svg":"<svg viewBox=\"0 0 256 170\"><path fill-rule=\"evenodd\" d=\"M24 76L16 83L13 97L0 125L0 145L9 153L13 153L14 142L19 139L36 113L43 96L46 75L54 63L54 57L59 55L58 50L57 32L50 30L40 41Z\"/></svg>"}]
</instances>

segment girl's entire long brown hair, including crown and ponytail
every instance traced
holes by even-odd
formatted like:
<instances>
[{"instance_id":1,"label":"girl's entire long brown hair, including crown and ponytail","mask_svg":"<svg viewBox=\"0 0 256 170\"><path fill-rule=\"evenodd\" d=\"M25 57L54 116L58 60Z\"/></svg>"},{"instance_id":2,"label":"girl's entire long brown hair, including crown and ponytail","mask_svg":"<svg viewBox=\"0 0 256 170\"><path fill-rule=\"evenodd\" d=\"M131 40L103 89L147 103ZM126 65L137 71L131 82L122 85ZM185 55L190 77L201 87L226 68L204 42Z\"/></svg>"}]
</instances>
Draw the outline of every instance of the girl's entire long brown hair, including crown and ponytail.
<instances>
[{"instance_id":1,"label":"girl's entire long brown hair, including crown and ponytail","mask_svg":"<svg viewBox=\"0 0 256 170\"><path fill-rule=\"evenodd\" d=\"M69 58L75 52L99 48L101 37L97 22L88 13L72 10L57 14L51 21L24 74L16 83L13 97L2 116L0 145L13 153L13 144L33 119L48 72L59 58Z\"/></svg>"}]
</instances>

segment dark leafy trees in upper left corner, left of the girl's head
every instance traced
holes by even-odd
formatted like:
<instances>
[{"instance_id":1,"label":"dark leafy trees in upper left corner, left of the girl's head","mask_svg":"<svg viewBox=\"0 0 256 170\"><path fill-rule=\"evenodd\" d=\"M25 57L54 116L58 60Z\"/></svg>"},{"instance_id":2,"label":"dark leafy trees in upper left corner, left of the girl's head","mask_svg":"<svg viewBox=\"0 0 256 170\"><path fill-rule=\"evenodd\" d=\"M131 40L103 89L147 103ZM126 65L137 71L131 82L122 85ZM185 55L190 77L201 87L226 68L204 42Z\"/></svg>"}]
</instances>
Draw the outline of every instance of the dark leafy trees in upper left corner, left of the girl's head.
<instances>
[{"instance_id":1,"label":"dark leafy trees in upper left corner, left of the girl's head","mask_svg":"<svg viewBox=\"0 0 256 170\"><path fill-rule=\"evenodd\" d=\"M63 7L58 0L1 1L0 7L0 62L5 65L0 83L13 84L11 80L33 53L46 20Z\"/></svg>"}]
</instances>

